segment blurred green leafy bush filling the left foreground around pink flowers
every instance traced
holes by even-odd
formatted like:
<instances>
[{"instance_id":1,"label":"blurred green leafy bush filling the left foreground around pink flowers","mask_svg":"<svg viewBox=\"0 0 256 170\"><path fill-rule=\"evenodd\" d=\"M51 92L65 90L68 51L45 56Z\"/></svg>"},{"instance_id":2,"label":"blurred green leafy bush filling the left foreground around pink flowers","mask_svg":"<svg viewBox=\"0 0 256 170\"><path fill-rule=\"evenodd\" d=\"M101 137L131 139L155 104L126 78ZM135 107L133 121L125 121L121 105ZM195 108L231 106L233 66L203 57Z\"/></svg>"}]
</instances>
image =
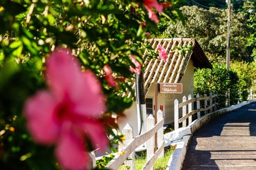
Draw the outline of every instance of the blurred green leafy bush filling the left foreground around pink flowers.
<instances>
[{"instance_id":1,"label":"blurred green leafy bush filling the left foreground around pink flowers","mask_svg":"<svg viewBox=\"0 0 256 170\"><path fill-rule=\"evenodd\" d=\"M172 1L174 4L177 2L177 0ZM131 88L133 72L140 71L140 69L143 71L143 67L140 68L140 66L145 60L144 57L148 57L143 56L146 49L149 55L155 55L153 50L144 43L145 38L148 38L146 32L157 31L156 22L160 17L158 12L164 16L162 6L168 7L172 3L159 4L156 1L146 0L0 1L1 168L59 169L59 165L63 166L61 162L57 164L53 154L53 145L49 144L45 147L35 143L34 136L28 132L29 128L27 129L26 126L26 122L29 120L25 115L31 114L30 109L29 107L24 109L24 105L27 106L27 103L35 100L37 101L35 103L38 104L38 101L41 101L37 92L39 89L49 88L46 90L48 92L45 90L42 92L46 97L49 97L49 94L54 94L53 89L58 91L58 88L54 88L52 81L48 82L51 79L49 77L53 76L55 71L48 71L51 66L47 65L51 64L46 63L49 63L49 58L59 56L63 51L68 52L67 54L61 53L62 56L74 57L75 66L71 63L72 66L69 67L69 70L76 74L74 77L81 78L81 82L85 84L83 87L88 87L84 82L86 80L82 80L83 76L86 76L88 81L93 80L92 84L96 84L90 89L96 88L98 92L104 94L103 102L106 104L106 110L102 109L101 117L92 116L87 121L94 122L94 125L99 123L104 126L108 135L113 135L114 142L121 140L122 135L116 135L112 131L117 128L117 125L111 114L116 113L122 116L124 109L130 107L132 99L123 94L127 90L133 92ZM179 18L180 15L175 15L175 18L171 16L170 19L175 21ZM62 60L64 59L59 60L58 66L61 65ZM76 60L79 62L75 62ZM55 61L55 63L58 62ZM77 67L82 73L76 71ZM58 71L60 70L57 69L56 72ZM65 73L65 69L63 72ZM61 76L62 78L67 77L65 74ZM73 78L70 74L68 76ZM97 77L100 86L97 85L94 77ZM113 81L116 84L113 85ZM62 93L57 92L58 95L55 94L55 96L58 98L58 96L62 97L66 94L67 99L61 100L63 103L54 106L56 107L54 112L59 113L55 117L57 120L72 117L69 114L71 111L74 112L74 108L70 101L73 101L74 98L69 99L72 94L70 87L72 83L77 85L78 82L68 82L67 80L60 83L59 88L62 89ZM58 83L59 81L57 81ZM66 83L69 87L68 90L65 89L67 87L62 87L66 86ZM74 86L73 90L78 90L77 87L81 88L81 86ZM30 98L30 96L33 97ZM26 102L28 98L29 100ZM100 99L102 98L100 97ZM77 98L76 102L78 102ZM48 104L47 107L52 103ZM36 110L36 107L33 108ZM84 107L82 108L84 109ZM78 110L82 108L78 108ZM63 114L67 117L63 117ZM76 128L74 126L71 129L77 130L80 125L77 125ZM97 129L87 131L92 130ZM51 133L45 133L45 136ZM68 134L79 136L81 132ZM87 151L95 149L95 143L93 143L95 140L92 138L93 135L91 138L83 139L82 141L86 140L86 142L82 142L84 146L80 147L86 148ZM66 155L71 156L72 154L67 153Z\"/></svg>"}]
</instances>

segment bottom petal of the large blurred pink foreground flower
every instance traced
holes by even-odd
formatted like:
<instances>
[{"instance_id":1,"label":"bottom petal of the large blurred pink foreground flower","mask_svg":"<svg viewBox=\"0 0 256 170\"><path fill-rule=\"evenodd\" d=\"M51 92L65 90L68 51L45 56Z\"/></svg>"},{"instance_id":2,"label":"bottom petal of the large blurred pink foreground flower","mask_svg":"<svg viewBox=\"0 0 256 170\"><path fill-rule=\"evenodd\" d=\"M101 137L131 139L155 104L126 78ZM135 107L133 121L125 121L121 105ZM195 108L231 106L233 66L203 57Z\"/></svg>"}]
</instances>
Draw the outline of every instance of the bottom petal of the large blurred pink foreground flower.
<instances>
[{"instance_id":1,"label":"bottom petal of the large blurred pink foreground flower","mask_svg":"<svg viewBox=\"0 0 256 170\"><path fill-rule=\"evenodd\" d=\"M55 148L55 155L62 168L70 170L85 169L89 163L82 138L71 132L63 132Z\"/></svg>"}]
</instances>

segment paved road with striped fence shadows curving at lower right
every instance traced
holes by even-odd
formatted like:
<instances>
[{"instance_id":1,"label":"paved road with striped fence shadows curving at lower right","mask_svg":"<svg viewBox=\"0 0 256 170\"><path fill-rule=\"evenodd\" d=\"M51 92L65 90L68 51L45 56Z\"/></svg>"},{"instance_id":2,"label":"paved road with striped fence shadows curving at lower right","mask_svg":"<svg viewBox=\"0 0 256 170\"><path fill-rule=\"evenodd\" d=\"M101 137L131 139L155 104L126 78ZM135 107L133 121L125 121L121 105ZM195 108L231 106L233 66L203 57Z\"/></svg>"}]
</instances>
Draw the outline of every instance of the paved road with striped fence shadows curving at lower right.
<instances>
[{"instance_id":1,"label":"paved road with striped fence shadows curving at lower right","mask_svg":"<svg viewBox=\"0 0 256 170\"><path fill-rule=\"evenodd\" d=\"M197 130L182 169L256 169L256 103L221 115Z\"/></svg>"}]
</instances>

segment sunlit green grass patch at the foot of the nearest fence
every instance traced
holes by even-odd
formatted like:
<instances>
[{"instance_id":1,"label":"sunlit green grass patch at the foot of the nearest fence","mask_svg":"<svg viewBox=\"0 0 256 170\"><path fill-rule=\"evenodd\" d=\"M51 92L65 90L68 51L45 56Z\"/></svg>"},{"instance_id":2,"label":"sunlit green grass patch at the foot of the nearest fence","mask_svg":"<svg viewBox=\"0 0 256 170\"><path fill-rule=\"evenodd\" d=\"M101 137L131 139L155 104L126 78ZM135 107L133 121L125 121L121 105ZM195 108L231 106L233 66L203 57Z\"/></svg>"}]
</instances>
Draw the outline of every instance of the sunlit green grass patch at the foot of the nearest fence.
<instances>
[{"instance_id":1,"label":"sunlit green grass patch at the foot of the nearest fence","mask_svg":"<svg viewBox=\"0 0 256 170\"><path fill-rule=\"evenodd\" d=\"M154 170L162 170L166 169L167 163L170 159L170 156L173 154L176 146L169 146L164 149L164 157L156 160L154 164ZM135 158L135 169L142 169L142 167L146 164L146 151L141 151L139 153L140 157ZM129 169L129 167L126 167ZM125 170L124 165L118 168L118 170Z\"/></svg>"}]
</instances>

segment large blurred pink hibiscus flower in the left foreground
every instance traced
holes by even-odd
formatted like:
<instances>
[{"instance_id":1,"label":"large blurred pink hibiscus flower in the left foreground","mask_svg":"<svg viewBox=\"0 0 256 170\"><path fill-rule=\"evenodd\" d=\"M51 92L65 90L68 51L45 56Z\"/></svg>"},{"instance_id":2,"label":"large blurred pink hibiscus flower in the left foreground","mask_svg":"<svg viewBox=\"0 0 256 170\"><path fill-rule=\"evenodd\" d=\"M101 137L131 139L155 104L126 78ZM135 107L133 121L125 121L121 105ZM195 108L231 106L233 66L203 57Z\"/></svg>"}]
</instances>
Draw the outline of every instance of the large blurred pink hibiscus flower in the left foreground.
<instances>
[{"instance_id":1,"label":"large blurred pink hibiscus flower in the left foreground","mask_svg":"<svg viewBox=\"0 0 256 170\"><path fill-rule=\"evenodd\" d=\"M55 50L46 63L50 90L26 101L27 127L35 142L55 145L62 168L85 169L89 162L86 140L105 149L108 138L99 118L106 110L101 84L91 71L81 72L67 49Z\"/></svg>"}]
</instances>

